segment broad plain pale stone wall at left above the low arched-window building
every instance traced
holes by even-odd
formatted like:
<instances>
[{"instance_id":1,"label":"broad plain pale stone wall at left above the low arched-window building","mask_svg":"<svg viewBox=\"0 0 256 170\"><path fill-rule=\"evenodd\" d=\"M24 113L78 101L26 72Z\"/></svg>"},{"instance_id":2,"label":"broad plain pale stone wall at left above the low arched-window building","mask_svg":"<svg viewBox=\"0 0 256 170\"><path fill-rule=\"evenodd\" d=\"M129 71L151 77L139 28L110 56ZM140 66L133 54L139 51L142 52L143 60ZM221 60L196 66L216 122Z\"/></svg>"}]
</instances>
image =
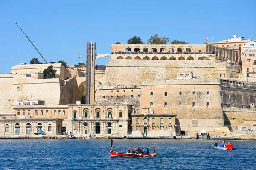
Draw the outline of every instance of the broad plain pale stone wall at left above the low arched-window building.
<instances>
[{"instance_id":1,"label":"broad plain pale stone wall at left above the low arched-window building","mask_svg":"<svg viewBox=\"0 0 256 170\"><path fill-rule=\"evenodd\" d=\"M25 99L44 100L45 105L58 105L59 79L33 79L18 74L0 74L0 112L12 113L12 105Z\"/></svg>"}]
</instances>

